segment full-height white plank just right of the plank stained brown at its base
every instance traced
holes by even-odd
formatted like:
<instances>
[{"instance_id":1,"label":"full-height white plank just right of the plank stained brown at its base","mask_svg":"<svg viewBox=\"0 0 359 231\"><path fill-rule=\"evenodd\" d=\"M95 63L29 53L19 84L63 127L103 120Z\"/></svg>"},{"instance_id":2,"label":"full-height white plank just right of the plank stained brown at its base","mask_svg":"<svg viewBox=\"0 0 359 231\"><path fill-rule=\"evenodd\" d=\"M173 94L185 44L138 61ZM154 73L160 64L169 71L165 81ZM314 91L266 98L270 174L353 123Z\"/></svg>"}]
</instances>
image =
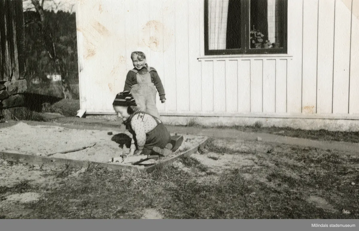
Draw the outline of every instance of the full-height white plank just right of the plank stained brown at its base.
<instances>
[{"instance_id":1,"label":"full-height white plank just right of the plank stained brown at its base","mask_svg":"<svg viewBox=\"0 0 359 231\"><path fill-rule=\"evenodd\" d=\"M335 0L318 2L317 113L332 113L334 5Z\"/></svg>"}]
</instances>

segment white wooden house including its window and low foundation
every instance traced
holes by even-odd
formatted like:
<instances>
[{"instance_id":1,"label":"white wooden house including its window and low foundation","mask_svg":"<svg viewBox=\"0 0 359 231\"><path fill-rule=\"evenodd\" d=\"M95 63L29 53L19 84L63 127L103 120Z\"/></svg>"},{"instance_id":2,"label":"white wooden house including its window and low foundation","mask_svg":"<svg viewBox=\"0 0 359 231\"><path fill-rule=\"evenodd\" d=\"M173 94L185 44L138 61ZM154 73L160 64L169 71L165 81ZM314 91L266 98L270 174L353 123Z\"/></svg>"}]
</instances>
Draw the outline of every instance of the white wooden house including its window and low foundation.
<instances>
[{"instance_id":1,"label":"white wooden house including its window and low foundation","mask_svg":"<svg viewBox=\"0 0 359 231\"><path fill-rule=\"evenodd\" d=\"M77 0L76 20L87 115L115 114L138 50L166 123L359 129L359 0Z\"/></svg>"}]
</instances>

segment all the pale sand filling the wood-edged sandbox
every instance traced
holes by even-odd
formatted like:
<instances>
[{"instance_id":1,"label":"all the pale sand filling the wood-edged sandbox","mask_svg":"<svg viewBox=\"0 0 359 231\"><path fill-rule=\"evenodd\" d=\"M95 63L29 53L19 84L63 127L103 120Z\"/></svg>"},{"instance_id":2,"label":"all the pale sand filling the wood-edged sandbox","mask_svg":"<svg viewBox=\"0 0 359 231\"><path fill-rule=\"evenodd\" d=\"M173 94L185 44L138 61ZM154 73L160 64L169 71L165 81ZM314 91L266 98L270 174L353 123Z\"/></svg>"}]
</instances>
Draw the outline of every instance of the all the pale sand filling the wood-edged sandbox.
<instances>
[{"instance_id":1,"label":"all the pale sand filling the wood-edged sandbox","mask_svg":"<svg viewBox=\"0 0 359 231\"><path fill-rule=\"evenodd\" d=\"M112 135L108 135L112 132ZM175 135L175 134L171 134ZM177 134L181 135L181 134ZM69 129L58 126L29 126L26 123L18 123L15 126L0 129L0 151L17 151L29 155L65 158L72 160L108 162L112 158L120 157L129 152L129 146L124 145L124 140L131 141L129 132L120 133L112 131ZM156 160L148 160L143 164L151 164L190 150L203 142L206 137L195 135L183 135L184 140L178 150L169 156ZM61 154L58 152L71 150L96 143L93 147L84 150ZM112 164L132 165L113 162Z\"/></svg>"}]
</instances>

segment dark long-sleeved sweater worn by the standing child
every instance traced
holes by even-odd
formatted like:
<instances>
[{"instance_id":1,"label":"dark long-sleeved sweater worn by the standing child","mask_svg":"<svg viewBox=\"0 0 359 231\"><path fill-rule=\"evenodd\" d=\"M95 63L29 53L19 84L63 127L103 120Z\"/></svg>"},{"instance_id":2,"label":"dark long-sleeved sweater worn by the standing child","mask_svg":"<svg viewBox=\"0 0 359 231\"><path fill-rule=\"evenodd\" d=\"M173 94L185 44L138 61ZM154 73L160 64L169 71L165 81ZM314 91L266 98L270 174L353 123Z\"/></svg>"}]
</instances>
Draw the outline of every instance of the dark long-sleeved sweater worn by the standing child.
<instances>
[{"instance_id":1,"label":"dark long-sleeved sweater worn by the standing child","mask_svg":"<svg viewBox=\"0 0 359 231\"><path fill-rule=\"evenodd\" d=\"M145 67L143 67L141 70L137 70L137 71L139 74L145 74L146 72L148 72L147 68L148 68L148 65L146 64ZM136 70L136 69L134 69L134 70ZM149 72L151 75L151 81L156 86L156 89L160 96L160 100L165 99L165 93L164 93L162 81L159 78L156 69L154 69L153 67L150 67ZM129 71L126 76L125 87L123 88L123 90L131 91L132 85L135 85L135 84L137 84L136 73L133 71Z\"/></svg>"}]
</instances>

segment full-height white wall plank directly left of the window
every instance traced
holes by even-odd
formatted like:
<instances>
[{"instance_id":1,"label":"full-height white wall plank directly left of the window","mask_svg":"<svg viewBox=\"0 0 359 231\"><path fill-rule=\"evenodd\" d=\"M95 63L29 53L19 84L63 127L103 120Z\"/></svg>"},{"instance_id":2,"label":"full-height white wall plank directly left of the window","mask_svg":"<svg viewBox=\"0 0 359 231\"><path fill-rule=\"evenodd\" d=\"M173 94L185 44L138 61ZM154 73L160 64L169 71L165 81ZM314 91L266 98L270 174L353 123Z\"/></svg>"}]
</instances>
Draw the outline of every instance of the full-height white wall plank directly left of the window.
<instances>
[{"instance_id":1,"label":"full-height white wall plank directly left of the window","mask_svg":"<svg viewBox=\"0 0 359 231\"><path fill-rule=\"evenodd\" d=\"M192 19L188 23L188 61L189 61L189 81L190 81L190 111L200 111L202 107L201 91L201 62L197 60L201 55L200 41L200 14L201 1L191 1L191 7L188 9L188 18Z\"/></svg>"}]
</instances>

